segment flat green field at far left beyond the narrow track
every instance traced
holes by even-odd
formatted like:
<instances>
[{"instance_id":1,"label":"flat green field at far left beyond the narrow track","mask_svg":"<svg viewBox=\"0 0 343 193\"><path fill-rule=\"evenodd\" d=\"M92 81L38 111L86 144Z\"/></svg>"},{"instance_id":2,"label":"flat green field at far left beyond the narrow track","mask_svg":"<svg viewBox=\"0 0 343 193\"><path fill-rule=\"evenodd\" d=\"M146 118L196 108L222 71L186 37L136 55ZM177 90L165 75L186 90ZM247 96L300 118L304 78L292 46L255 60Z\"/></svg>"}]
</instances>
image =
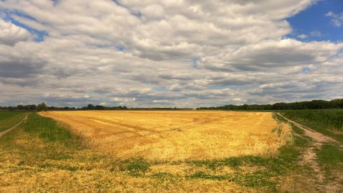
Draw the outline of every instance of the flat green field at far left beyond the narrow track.
<instances>
[{"instance_id":1,"label":"flat green field at far left beyond the narrow track","mask_svg":"<svg viewBox=\"0 0 343 193\"><path fill-rule=\"evenodd\" d=\"M0 111L0 132L21 122L27 113L25 111Z\"/></svg>"}]
</instances>

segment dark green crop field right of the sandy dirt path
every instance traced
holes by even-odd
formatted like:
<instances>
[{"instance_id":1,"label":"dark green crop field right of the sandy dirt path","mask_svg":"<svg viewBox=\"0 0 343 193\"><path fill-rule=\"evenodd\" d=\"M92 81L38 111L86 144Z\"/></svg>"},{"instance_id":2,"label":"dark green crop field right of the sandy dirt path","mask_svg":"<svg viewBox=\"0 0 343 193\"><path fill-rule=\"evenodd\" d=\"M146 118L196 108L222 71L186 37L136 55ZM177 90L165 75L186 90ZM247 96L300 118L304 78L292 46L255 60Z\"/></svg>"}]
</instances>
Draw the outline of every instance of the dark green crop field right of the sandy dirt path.
<instances>
[{"instance_id":1,"label":"dark green crop field right of the sandy dirt path","mask_svg":"<svg viewBox=\"0 0 343 193\"><path fill-rule=\"evenodd\" d=\"M343 142L343 109L287 110L285 117Z\"/></svg>"}]
</instances>

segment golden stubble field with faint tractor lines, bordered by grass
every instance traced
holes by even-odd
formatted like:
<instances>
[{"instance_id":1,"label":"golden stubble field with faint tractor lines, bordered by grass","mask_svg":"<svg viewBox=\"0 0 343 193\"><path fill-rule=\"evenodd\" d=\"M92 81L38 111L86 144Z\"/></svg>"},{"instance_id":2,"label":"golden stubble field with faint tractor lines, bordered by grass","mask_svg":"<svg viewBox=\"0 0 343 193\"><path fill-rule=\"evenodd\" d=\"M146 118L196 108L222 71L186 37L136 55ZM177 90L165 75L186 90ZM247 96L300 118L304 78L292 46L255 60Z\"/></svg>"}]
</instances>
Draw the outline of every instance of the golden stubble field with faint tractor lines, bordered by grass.
<instances>
[{"instance_id":1,"label":"golden stubble field with faint tractor lines, bordered by grass","mask_svg":"<svg viewBox=\"0 0 343 193\"><path fill-rule=\"evenodd\" d=\"M272 113L235 111L51 111L98 150L147 160L270 157L283 145Z\"/></svg>"}]
</instances>

